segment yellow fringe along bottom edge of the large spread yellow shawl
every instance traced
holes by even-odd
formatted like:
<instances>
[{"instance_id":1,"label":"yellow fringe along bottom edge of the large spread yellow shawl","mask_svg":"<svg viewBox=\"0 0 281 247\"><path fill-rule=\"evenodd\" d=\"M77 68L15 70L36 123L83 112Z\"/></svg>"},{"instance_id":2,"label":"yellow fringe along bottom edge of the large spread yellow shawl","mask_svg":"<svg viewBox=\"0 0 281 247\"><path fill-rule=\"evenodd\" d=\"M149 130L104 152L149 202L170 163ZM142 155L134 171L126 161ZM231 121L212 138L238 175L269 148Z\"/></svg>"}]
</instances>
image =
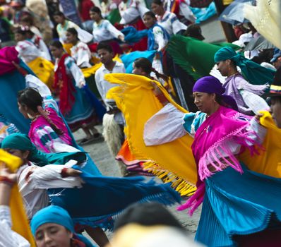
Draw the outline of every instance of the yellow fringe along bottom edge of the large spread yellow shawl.
<instances>
[{"instance_id":1,"label":"yellow fringe along bottom edge of the large spread yellow shawl","mask_svg":"<svg viewBox=\"0 0 281 247\"><path fill-rule=\"evenodd\" d=\"M175 191L179 192L181 196L190 196L196 192L195 185L177 176L177 174L174 174L167 169L163 169L159 164L156 164L153 161L145 162L142 166L145 171L154 174L164 183L171 183L171 187L174 188Z\"/></svg>"}]
</instances>

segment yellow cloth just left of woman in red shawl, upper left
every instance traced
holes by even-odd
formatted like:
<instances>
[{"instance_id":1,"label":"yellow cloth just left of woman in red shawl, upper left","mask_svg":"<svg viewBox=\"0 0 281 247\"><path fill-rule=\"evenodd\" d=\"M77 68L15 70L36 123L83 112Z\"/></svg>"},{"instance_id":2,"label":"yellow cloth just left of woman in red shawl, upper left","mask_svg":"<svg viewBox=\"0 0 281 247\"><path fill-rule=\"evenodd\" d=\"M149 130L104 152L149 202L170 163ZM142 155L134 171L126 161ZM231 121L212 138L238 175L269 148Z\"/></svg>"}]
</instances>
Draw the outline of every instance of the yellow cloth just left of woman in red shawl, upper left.
<instances>
[{"instance_id":1,"label":"yellow cloth just left of woman in red shawl, upper left","mask_svg":"<svg viewBox=\"0 0 281 247\"><path fill-rule=\"evenodd\" d=\"M37 59L28 63L28 66L52 90L52 85L54 84L54 64L42 57L37 57Z\"/></svg>"}]
</instances>

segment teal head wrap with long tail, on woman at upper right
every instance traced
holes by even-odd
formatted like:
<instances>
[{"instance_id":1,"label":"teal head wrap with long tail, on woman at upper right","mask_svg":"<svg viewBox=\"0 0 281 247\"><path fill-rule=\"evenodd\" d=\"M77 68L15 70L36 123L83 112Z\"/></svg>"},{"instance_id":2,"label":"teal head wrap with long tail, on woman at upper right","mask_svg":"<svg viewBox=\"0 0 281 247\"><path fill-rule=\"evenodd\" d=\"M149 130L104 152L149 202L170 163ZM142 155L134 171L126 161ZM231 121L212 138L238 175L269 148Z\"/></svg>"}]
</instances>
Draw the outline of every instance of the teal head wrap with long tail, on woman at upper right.
<instances>
[{"instance_id":1,"label":"teal head wrap with long tail, on woman at upper right","mask_svg":"<svg viewBox=\"0 0 281 247\"><path fill-rule=\"evenodd\" d=\"M275 71L265 68L255 62L246 59L243 55L237 54L232 47L219 49L214 56L215 63L230 59L241 68L241 72L246 80L253 85L271 84Z\"/></svg>"}]
</instances>

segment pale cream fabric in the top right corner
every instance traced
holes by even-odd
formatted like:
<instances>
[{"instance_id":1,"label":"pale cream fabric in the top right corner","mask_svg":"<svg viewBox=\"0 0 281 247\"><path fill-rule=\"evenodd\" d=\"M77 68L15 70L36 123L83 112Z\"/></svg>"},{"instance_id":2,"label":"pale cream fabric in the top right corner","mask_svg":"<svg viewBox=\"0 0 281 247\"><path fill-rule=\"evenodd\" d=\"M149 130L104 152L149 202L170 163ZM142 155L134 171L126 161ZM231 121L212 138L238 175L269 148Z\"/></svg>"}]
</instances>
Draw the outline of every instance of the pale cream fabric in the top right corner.
<instances>
[{"instance_id":1,"label":"pale cream fabric in the top right corner","mask_svg":"<svg viewBox=\"0 0 281 247\"><path fill-rule=\"evenodd\" d=\"M256 6L245 4L244 16L254 28L276 47L281 49L281 1L258 0ZM243 10L241 10L243 11Z\"/></svg>"}]
</instances>

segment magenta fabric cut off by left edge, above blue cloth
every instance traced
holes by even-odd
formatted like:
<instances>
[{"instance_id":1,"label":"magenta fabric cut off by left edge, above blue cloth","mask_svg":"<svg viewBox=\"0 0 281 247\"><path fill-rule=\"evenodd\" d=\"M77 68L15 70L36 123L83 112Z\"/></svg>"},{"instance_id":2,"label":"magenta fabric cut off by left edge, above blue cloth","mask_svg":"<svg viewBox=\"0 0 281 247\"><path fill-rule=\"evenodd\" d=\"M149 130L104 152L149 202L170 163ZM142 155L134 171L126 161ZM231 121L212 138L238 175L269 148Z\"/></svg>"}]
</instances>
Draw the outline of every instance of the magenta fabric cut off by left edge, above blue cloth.
<instances>
[{"instance_id":1,"label":"magenta fabric cut off by left edge, above blue cloth","mask_svg":"<svg viewBox=\"0 0 281 247\"><path fill-rule=\"evenodd\" d=\"M0 49L0 76L16 70L16 67L13 66L12 61L15 61L16 64L20 62L16 48L4 47Z\"/></svg>"}]
</instances>

